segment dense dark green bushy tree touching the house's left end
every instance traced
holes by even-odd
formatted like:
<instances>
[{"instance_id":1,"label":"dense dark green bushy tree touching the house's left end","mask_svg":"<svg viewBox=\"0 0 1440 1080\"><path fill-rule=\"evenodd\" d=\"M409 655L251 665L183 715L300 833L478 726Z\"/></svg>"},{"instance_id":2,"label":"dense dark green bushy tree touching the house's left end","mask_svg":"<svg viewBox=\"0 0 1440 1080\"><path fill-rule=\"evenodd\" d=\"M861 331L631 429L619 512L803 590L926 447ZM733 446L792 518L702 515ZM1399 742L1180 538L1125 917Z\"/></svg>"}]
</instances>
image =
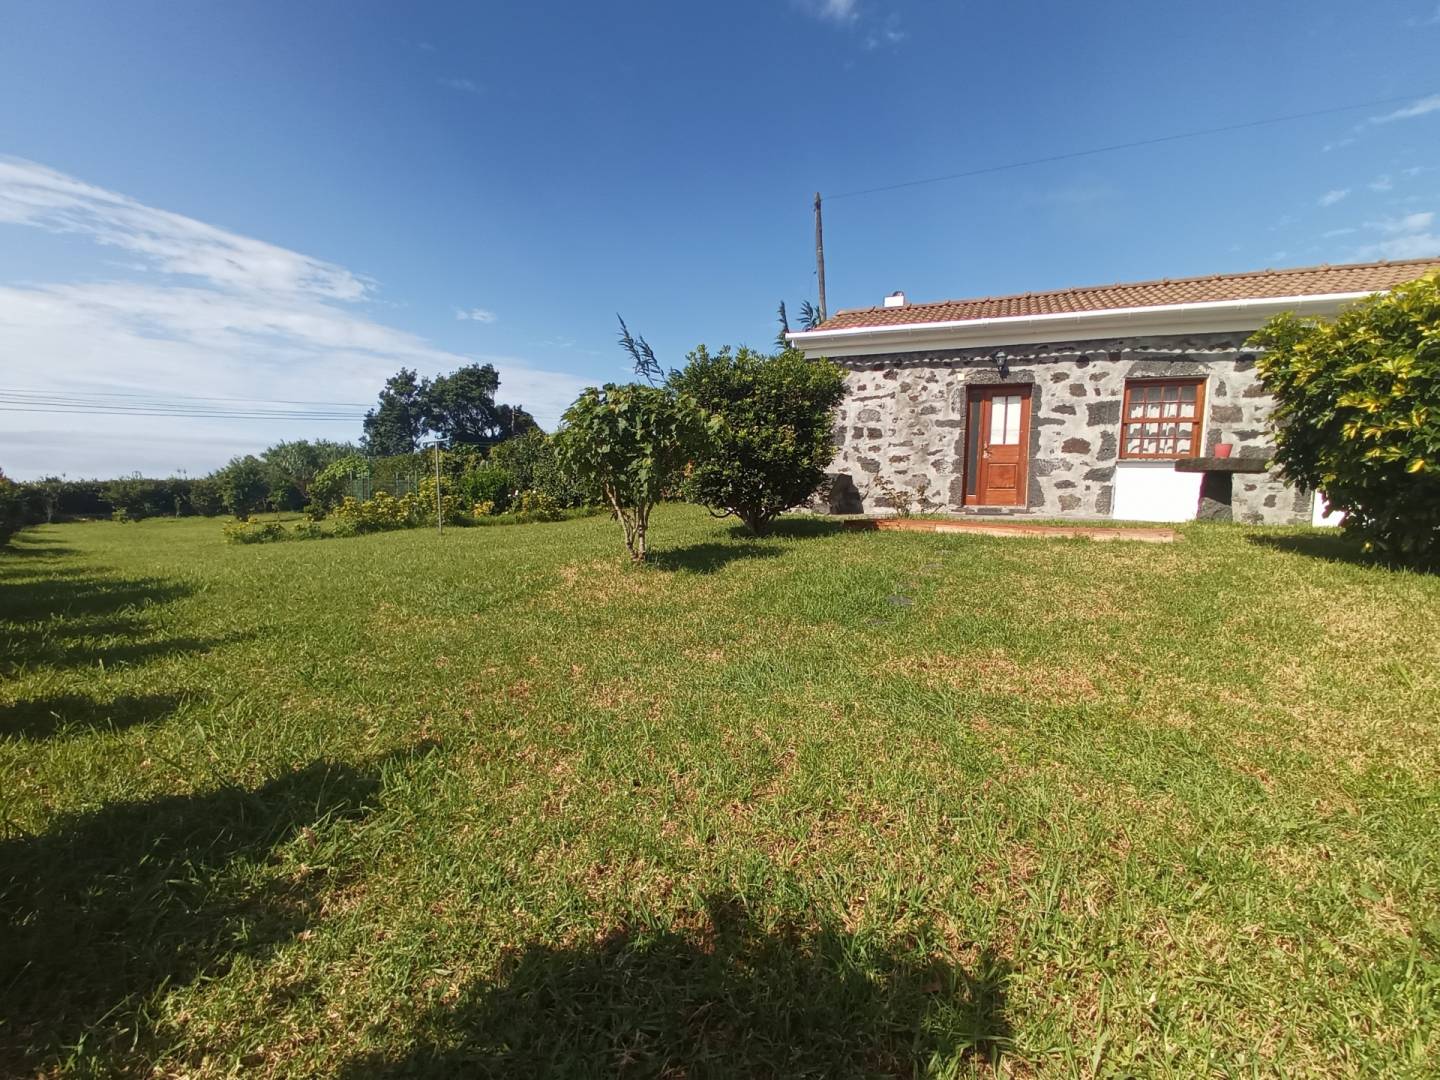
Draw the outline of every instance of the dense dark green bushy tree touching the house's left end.
<instances>
[{"instance_id":1,"label":"dense dark green bushy tree touching the house's left end","mask_svg":"<svg viewBox=\"0 0 1440 1080\"><path fill-rule=\"evenodd\" d=\"M667 384L720 420L685 478L685 494L711 513L733 514L760 534L825 481L835 406L845 396L838 366L796 348L765 356L700 346Z\"/></svg>"}]
</instances>

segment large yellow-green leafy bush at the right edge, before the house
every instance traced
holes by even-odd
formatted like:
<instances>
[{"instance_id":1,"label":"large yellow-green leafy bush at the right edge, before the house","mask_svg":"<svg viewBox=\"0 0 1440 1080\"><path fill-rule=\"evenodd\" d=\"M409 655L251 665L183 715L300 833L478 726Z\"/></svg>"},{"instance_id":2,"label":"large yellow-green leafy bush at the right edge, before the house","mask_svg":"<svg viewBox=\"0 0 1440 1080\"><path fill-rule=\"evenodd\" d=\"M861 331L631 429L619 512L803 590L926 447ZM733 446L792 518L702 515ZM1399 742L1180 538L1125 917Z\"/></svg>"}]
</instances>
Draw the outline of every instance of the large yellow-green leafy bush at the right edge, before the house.
<instances>
[{"instance_id":1,"label":"large yellow-green leafy bush at the right edge, before the house","mask_svg":"<svg viewBox=\"0 0 1440 1080\"><path fill-rule=\"evenodd\" d=\"M1250 344L1286 480L1323 491L1367 550L1440 566L1440 274L1329 321L1277 315Z\"/></svg>"}]
</instances>

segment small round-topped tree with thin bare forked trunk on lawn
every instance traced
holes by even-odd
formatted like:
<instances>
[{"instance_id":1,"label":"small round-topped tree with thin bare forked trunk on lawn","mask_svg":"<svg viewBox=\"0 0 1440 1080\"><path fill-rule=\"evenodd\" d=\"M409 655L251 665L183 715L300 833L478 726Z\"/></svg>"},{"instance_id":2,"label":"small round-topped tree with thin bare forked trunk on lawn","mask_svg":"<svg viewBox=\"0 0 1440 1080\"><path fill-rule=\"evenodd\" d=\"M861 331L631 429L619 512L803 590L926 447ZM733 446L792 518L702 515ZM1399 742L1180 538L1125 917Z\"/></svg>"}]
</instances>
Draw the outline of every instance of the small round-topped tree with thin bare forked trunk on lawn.
<instances>
[{"instance_id":1,"label":"small round-topped tree with thin bare forked trunk on lawn","mask_svg":"<svg viewBox=\"0 0 1440 1080\"><path fill-rule=\"evenodd\" d=\"M625 533L631 560L645 562L649 514L681 480L711 433L693 400L660 386L589 387L556 435L560 464L603 500Z\"/></svg>"}]
</instances>

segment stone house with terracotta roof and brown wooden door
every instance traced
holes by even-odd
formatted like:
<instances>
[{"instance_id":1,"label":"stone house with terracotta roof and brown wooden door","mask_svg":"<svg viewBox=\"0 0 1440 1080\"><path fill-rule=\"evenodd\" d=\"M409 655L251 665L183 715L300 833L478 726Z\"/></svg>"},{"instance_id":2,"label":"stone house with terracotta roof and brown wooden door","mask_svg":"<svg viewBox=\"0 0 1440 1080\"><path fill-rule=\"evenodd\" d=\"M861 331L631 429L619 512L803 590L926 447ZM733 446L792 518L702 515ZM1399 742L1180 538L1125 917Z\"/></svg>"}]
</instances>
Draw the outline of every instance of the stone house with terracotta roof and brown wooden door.
<instances>
[{"instance_id":1,"label":"stone house with terracotta roof and brown wooden door","mask_svg":"<svg viewBox=\"0 0 1440 1080\"><path fill-rule=\"evenodd\" d=\"M899 492L950 513L1182 521L1204 494L1211 513L1240 521L1320 520L1313 492L1264 468L1273 402L1246 338L1282 311L1333 315L1437 268L1308 266L937 304L897 292L841 311L789 336L847 369L828 510L886 513Z\"/></svg>"}]
</instances>

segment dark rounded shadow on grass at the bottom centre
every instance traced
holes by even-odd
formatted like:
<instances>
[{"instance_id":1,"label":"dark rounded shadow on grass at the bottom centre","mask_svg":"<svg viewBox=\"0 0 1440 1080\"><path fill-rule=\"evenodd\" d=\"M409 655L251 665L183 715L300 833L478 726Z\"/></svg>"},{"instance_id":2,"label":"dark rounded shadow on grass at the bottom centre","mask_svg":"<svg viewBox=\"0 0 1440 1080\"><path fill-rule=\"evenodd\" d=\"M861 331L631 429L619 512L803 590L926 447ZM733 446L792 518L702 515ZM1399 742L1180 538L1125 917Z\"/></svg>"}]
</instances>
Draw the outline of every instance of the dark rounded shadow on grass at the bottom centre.
<instances>
[{"instance_id":1,"label":"dark rounded shadow on grass at the bottom centre","mask_svg":"<svg viewBox=\"0 0 1440 1080\"><path fill-rule=\"evenodd\" d=\"M708 901L694 932L530 946L494 985L425 1014L409 1054L360 1057L341 1076L946 1073L940 1063L1008 1050L1008 978L995 956L963 972Z\"/></svg>"}]
</instances>

